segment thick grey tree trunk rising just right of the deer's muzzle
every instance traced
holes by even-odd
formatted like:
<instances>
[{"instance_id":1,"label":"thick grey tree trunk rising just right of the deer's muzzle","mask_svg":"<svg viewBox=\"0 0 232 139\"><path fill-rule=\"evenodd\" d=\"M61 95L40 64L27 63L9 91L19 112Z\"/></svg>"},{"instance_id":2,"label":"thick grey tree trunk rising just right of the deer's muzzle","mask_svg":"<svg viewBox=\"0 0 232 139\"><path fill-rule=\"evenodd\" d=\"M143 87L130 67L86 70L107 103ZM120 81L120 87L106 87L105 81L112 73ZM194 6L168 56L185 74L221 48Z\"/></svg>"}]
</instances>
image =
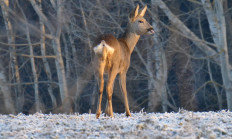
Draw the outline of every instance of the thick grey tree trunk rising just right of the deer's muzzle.
<instances>
[{"instance_id":1,"label":"thick grey tree trunk rising just right of the deer's muzzle","mask_svg":"<svg viewBox=\"0 0 232 139\"><path fill-rule=\"evenodd\" d=\"M162 47L162 44L159 39L159 25L158 25L158 7L155 6L154 1L152 1L152 13L153 23L152 26L156 33L153 36L153 46L147 52L147 66L148 66L148 89L149 89L149 102L148 109L149 111L156 111L157 106L162 106L162 111L168 111L167 106L167 90L166 90L166 81L167 81L167 62L166 56ZM155 67L153 66L153 60L155 62ZM155 70L153 70L155 69Z\"/></svg>"}]
</instances>

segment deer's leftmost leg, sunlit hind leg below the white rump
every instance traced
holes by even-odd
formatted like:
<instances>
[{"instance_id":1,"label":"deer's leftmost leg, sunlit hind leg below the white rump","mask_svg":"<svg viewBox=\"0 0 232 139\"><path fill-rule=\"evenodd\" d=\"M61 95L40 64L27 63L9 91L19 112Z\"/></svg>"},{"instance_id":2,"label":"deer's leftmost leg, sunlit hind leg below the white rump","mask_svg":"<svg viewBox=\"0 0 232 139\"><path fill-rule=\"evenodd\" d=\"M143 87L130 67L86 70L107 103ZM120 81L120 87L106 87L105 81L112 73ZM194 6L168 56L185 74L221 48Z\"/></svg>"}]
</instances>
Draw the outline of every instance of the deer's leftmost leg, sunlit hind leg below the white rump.
<instances>
[{"instance_id":1,"label":"deer's leftmost leg, sunlit hind leg below the white rump","mask_svg":"<svg viewBox=\"0 0 232 139\"><path fill-rule=\"evenodd\" d=\"M96 118L99 118L101 114L101 102L102 102L102 94L103 94L103 89L104 89L104 67L105 67L105 62L100 63L99 65L99 98L98 98L98 109L96 113Z\"/></svg>"}]
</instances>

